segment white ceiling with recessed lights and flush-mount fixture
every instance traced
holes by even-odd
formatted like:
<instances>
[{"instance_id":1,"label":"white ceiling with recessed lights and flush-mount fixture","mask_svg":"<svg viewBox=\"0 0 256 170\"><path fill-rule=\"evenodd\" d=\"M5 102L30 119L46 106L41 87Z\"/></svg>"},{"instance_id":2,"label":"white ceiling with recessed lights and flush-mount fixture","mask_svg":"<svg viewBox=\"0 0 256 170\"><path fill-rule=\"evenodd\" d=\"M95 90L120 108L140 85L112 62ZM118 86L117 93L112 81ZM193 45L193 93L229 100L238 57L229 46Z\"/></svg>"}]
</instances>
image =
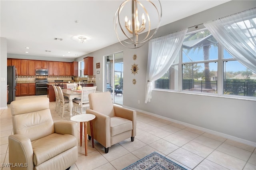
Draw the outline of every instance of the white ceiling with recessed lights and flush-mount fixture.
<instances>
[{"instance_id":1,"label":"white ceiling with recessed lights and flush-mount fixture","mask_svg":"<svg viewBox=\"0 0 256 170\"><path fill-rule=\"evenodd\" d=\"M162 4L160 26L228 1L160 0ZM0 37L7 38L7 53L80 57L118 42L113 18L122 2L122 0L1 0ZM79 23L76 23L76 20ZM79 43L78 36L85 36L88 40ZM62 38L63 41L56 41L54 38ZM26 51L28 53L25 53Z\"/></svg>"}]
</instances>

